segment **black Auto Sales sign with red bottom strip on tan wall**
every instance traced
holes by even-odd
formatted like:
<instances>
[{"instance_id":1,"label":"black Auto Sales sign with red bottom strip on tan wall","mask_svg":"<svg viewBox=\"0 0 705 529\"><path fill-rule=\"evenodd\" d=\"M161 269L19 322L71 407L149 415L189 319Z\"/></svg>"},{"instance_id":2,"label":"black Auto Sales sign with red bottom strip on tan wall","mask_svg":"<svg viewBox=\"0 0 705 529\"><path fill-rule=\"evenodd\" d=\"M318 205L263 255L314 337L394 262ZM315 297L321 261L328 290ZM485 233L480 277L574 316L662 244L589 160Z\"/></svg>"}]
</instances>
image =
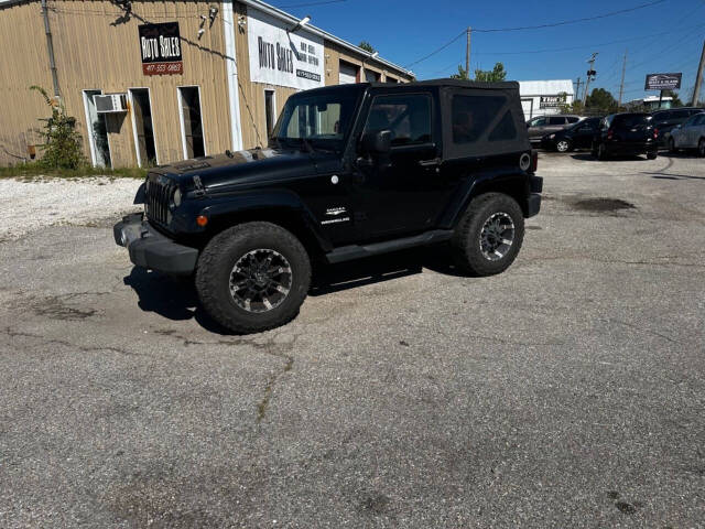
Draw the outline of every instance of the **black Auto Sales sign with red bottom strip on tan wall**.
<instances>
[{"instance_id":1,"label":"black Auto Sales sign with red bottom strip on tan wall","mask_svg":"<svg viewBox=\"0 0 705 529\"><path fill-rule=\"evenodd\" d=\"M140 52L144 75L174 75L184 73L181 57L178 22L143 24L140 32Z\"/></svg>"}]
</instances>

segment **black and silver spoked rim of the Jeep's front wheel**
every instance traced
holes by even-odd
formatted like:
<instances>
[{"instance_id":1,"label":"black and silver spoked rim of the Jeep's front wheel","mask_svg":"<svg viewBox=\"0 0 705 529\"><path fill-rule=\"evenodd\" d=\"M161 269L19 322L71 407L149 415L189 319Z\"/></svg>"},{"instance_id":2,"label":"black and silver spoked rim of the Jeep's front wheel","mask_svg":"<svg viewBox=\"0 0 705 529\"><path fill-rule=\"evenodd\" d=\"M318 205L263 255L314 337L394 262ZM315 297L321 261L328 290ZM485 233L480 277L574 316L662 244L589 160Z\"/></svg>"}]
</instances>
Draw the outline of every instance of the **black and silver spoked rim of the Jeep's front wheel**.
<instances>
[{"instance_id":1,"label":"black and silver spoked rim of the Jeep's front wheel","mask_svg":"<svg viewBox=\"0 0 705 529\"><path fill-rule=\"evenodd\" d=\"M281 305L292 285L291 264L274 250L247 252L230 272L230 295L247 312L268 312Z\"/></svg>"}]
</instances>

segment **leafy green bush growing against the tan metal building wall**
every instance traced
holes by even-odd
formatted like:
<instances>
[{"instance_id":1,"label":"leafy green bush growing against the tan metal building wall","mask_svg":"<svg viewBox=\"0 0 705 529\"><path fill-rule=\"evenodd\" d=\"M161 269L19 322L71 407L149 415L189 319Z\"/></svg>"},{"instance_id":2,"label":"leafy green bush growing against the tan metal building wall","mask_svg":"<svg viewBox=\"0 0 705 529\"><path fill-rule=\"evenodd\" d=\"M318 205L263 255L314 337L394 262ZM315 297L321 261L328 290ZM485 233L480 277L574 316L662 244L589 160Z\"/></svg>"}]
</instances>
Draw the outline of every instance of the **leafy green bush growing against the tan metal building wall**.
<instances>
[{"instance_id":1,"label":"leafy green bush growing against the tan metal building wall","mask_svg":"<svg viewBox=\"0 0 705 529\"><path fill-rule=\"evenodd\" d=\"M39 91L52 109L52 117L45 121L44 140L40 145L44 151L40 163L47 169L78 169L87 164L82 149L80 134L76 130L76 118L66 115L64 104L51 98L41 86L31 86Z\"/></svg>"}]
</instances>

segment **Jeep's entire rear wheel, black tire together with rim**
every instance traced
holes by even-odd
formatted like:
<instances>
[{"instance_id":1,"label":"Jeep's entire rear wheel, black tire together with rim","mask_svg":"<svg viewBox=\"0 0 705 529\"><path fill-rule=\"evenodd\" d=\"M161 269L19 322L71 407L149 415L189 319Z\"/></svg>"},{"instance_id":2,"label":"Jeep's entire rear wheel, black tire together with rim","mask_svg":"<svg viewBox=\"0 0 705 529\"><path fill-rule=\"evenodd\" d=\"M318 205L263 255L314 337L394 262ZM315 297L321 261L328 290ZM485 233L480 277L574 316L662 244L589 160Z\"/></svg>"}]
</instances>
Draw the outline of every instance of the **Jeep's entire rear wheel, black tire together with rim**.
<instances>
[{"instance_id":1,"label":"Jeep's entire rear wheel, black tire together with rim","mask_svg":"<svg viewBox=\"0 0 705 529\"><path fill-rule=\"evenodd\" d=\"M451 241L457 267L470 276L503 272L524 238L524 216L511 196L487 193L470 202Z\"/></svg>"}]
</instances>

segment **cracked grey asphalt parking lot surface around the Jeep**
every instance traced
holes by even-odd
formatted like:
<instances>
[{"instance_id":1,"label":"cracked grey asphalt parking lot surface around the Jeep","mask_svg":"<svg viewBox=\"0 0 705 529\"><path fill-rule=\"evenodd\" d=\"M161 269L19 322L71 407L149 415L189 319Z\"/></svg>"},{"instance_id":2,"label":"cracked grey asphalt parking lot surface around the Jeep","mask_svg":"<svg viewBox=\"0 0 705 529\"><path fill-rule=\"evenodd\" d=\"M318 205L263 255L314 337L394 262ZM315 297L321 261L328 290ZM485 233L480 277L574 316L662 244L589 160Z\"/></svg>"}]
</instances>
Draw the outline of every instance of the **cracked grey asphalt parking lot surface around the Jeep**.
<instances>
[{"instance_id":1,"label":"cracked grey asphalt parking lot surface around the Jeep","mask_svg":"<svg viewBox=\"0 0 705 529\"><path fill-rule=\"evenodd\" d=\"M0 527L705 527L705 162L539 174L506 273L339 266L247 337L112 218L3 240Z\"/></svg>"}]
</instances>

